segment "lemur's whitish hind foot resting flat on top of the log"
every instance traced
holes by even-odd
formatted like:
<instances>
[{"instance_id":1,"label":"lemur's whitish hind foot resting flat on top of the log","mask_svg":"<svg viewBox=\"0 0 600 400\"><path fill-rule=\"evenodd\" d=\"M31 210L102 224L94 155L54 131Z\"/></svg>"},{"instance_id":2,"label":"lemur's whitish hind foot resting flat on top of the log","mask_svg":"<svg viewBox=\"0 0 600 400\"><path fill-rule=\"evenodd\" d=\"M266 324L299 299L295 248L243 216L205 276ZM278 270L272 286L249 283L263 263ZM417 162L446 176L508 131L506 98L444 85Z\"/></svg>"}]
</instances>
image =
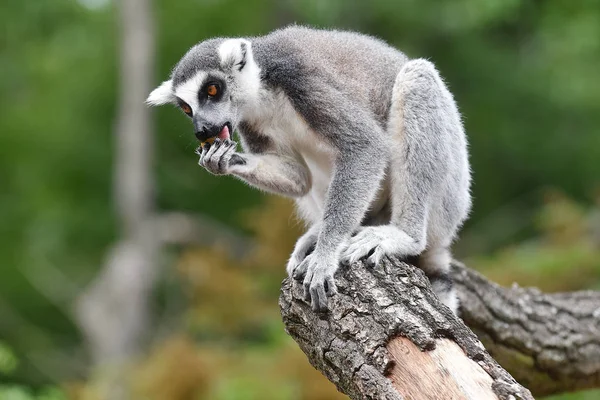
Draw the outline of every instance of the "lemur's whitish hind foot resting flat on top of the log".
<instances>
[{"instance_id":1,"label":"lemur's whitish hind foot resting flat on top of the log","mask_svg":"<svg viewBox=\"0 0 600 400\"><path fill-rule=\"evenodd\" d=\"M341 259L351 264L367 257L367 263L375 266L384 256L412 256L423 250L422 244L394 225L367 226L350 238Z\"/></svg>"}]
</instances>

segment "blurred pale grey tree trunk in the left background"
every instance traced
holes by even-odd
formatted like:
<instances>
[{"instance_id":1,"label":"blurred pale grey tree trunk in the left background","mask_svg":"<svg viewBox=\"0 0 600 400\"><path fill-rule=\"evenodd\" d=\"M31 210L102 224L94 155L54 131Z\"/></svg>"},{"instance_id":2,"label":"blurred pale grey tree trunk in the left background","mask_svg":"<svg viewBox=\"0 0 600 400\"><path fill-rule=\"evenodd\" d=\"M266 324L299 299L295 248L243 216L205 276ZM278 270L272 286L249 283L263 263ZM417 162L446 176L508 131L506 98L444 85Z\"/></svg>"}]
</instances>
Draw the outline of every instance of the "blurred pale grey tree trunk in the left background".
<instances>
[{"instance_id":1,"label":"blurred pale grey tree trunk in the left background","mask_svg":"<svg viewBox=\"0 0 600 400\"><path fill-rule=\"evenodd\" d=\"M154 71L151 3L121 0L117 5L120 89L113 173L119 240L76 310L96 365L119 365L140 349L160 254L158 235L151 229L154 142L144 104ZM112 393L110 398L123 395Z\"/></svg>"}]
</instances>

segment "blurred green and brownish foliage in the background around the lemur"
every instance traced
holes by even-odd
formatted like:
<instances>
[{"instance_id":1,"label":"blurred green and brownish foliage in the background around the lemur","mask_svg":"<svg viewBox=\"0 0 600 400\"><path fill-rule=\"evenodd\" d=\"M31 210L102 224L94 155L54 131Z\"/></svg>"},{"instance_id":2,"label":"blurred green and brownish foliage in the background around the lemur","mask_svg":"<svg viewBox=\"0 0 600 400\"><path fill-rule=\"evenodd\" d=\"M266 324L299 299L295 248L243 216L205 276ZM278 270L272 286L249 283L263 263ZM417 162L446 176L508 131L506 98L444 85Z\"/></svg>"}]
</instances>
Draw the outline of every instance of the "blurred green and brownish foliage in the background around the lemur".
<instances>
[{"instance_id":1,"label":"blurred green and brownish foliage in the background around the lemur","mask_svg":"<svg viewBox=\"0 0 600 400\"><path fill-rule=\"evenodd\" d=\"M116 10L110 0L1 8L0 399L58 399L39 389L56 383L83 397L73 299L116 235ZM157 84L197 41L291 22L359 30L431 59L471 145L475 207L457 254L505 284L600 289L597 1L157 0L154 11ZM156 302L169 335L133 367L136 390L157 399L335 398L279 322L279 282L300 232L291 207L209 176L186 119L168 107L155 115L158 207L210 210L260 245L242 266L226 247L169 254L165 264L177 267ZM181 362L189 373L178 375L179 389L162 392ZM600 394L560 399L590 396Z\"/></svg>"}]
</instances>

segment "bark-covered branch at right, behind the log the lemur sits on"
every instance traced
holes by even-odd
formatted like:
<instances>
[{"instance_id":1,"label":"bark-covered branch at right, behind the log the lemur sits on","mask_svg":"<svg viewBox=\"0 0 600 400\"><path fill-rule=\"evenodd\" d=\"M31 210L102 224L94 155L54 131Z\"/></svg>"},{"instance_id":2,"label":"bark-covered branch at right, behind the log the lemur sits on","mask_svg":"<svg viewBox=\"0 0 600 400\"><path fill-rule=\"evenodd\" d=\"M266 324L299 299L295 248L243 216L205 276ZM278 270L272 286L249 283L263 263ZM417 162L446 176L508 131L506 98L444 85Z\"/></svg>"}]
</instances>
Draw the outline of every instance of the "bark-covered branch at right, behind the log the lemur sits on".
<instances>
[{"instance_id":1,"label":"bark-covered branch at right, behind the log the lemur sits on","mask_svg":"<svg viewBox=\"0 0 600 400\"><path fill-rule=\"evenodd\" d=\"M600 292L502 288L459 263L461 316L535 395L600 387Z\"/></svg>"}]
</instances>

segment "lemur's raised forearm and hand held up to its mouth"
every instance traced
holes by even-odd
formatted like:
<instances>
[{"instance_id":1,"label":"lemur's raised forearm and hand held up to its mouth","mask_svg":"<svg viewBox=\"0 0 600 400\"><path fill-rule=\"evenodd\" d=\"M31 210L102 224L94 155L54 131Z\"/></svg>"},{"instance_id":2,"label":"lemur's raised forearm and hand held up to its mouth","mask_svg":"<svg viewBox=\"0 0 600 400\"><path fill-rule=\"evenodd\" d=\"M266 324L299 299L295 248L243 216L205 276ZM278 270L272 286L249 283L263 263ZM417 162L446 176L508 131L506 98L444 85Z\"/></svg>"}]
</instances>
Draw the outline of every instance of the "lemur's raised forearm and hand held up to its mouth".
<instances>
[{"instance_id":1,"label":"lemur's raised forearm and hand held up to its mouth","mask_svg":"<svg viewBox=\"0 0 600 400\"><path fill-rule=\"evenodd\" d=\"M301 197L310 190L310 172L291 155L237 153L237 143L216 139L205 145L199 164L215 175L233 175L258 189Z\"/></svg>"}]
</instances>

